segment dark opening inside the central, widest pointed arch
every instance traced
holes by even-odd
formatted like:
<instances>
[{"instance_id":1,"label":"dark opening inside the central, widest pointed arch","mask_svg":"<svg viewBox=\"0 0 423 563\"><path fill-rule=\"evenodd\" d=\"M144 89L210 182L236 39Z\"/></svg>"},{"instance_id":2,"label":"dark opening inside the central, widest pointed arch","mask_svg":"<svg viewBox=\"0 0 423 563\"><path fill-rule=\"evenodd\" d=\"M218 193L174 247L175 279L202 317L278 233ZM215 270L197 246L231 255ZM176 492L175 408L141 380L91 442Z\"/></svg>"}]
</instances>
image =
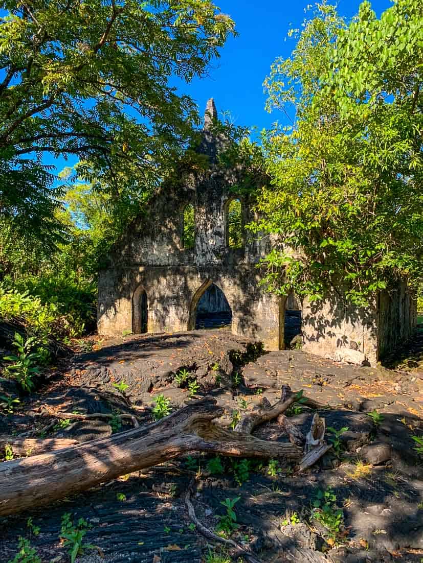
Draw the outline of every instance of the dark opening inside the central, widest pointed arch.
<instances>
[{"instance_id":1,"label":"dark opening inside the central, widest pointed arch","mask_svg":"<svg viewBox=\"0 0 423 563\"><path fill-rule=\"evenodd\" d=\"M197 303L195 328L219 328L231 324L231 307L223 291L211 284Z\"/></svg>"}]
</instances>

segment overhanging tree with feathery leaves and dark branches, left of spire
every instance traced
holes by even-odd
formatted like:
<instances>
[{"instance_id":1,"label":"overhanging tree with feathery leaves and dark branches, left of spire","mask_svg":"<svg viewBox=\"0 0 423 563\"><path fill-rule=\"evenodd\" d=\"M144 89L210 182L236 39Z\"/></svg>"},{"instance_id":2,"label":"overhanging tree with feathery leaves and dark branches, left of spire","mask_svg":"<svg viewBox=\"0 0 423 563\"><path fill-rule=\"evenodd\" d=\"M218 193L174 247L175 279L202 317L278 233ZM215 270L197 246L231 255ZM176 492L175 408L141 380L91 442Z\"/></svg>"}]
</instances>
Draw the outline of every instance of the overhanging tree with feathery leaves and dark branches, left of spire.
<instances>
[{"instance_id":1,"label":"overhanging tree with feathery leaves and dark branches, left of spire","mask_svg":"<svg viewBox=\"0 0 423 563\"><path fill-rule=\"evenodd\" d=\"M99 179L115 201L151 189L198 121L169 78L202 75L234 24L209 0L0 8L0 215L54 241L64 234L55 213L63 193L43 156L76 155L80 177Z\"/></svg>"}]
</instances>

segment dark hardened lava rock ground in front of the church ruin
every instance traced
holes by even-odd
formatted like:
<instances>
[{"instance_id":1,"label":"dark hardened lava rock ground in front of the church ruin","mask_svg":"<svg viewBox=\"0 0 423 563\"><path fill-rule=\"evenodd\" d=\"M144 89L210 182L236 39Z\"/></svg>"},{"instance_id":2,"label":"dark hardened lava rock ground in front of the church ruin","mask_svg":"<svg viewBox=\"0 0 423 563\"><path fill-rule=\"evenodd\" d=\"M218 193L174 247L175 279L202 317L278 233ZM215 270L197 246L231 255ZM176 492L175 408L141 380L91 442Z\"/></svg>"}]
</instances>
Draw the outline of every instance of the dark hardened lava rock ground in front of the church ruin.
<instances>
[{"instance_id":1,"label":"dark hardened lava rock ground in front of the church ruin","mask_svg":"<svg viewBox=\"0 0 423 563\"><path fill-rule=\"evenodd\" d=\"M419 339L421 333L409 345L408 356L405 352L391 361L394 369L337 364L298 350L267 353L227 330L92 340L92 350L51 370L49 381L15 414L0 417L0 434L79 441L108 436L131 427L130 419L122 421L119 414L135 415L141 425L153 421L158 395L168 397L173 409L213 395L225 409L221 423L231 425L263 401L279 400L283 385L314 400L327 427L347 430L338 438L327 432L334 447L301 475L280 460L217 460L193 452L46 508L3 518L0 561L13 560L19 536L30 540L43 563L70 561L59 541L64 513L89 525L83 541L95 547L84 550L77 558L81 563L246 561L231 559L233 552L199 533L185 502L191 487L196 515L210 530L224 515L221 502L239 497L234 507L239 527L231 537L263 563L421 562L423 457L411 439L423 434ZM184 370L199 383L193 397L186 383L180 387L175 381ZM0 395L12 385L0 380ZM300 401L288 414L305 435L314 412ZM73 421L60 413L113 418ZM288 440L276 420L254 435ZM319 497L324 491L327 517L322 519ZM317 511L315 501L320 502ZM27 525L29 517L38 535Z\"/></svg>"}]
</instances>

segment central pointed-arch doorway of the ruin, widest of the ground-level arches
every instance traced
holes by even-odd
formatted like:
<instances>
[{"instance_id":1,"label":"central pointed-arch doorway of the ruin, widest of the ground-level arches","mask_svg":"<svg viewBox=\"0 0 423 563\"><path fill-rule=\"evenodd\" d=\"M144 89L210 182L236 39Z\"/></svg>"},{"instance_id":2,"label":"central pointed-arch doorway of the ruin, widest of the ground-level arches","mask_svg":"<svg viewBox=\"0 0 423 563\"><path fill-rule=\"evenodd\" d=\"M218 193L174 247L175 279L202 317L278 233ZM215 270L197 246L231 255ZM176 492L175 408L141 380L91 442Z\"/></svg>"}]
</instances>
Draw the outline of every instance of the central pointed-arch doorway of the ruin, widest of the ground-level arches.
<instances>
[{"instance_id":1,"label":"central pointed-arch doorway of the ruin, widest of the ground-level arches","mask_svg":"<svg viewBox=\"0 0 423 563\"><path fill-rule=\"evenodd\" d=\"M208 280L192 298L188 330L230 327L231 324L232 310L222 289Z\"/></svg>"}]
</instances>

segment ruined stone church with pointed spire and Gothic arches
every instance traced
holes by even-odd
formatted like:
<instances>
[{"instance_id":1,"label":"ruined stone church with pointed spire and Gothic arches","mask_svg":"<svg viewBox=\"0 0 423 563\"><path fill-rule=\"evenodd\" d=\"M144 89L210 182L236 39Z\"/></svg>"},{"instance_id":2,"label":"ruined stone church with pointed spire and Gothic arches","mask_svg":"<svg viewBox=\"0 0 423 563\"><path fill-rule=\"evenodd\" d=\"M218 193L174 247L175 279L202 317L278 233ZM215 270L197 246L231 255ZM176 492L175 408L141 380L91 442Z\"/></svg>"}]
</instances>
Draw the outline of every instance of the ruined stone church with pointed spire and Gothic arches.
<instances>
[{"instance_id":1,"label":"ruined stone church with pointed spire and Gothic arches","mask_svg":"<svg viewBox=\"0 0 423 563\"><path fill-rule=\"evenodd\" d=\"M380 292L371 306L347 305L338 291L325 300L277 297L259 282L257 264L271 250L269 237L241 229L231 244L231 205L242 225L254 219L253 200L233 195L239 171L218 163L221 140L209 100L200 151L209 169L158 190L147 216L140 215L99 272L99 334L179 332L228 325L233 334L263 342L267 350L292 338L312 354L375 365L411 335L416 305L405 283ZM192 240L186 240L192 210Z\"/></svg>"}]
</instances>

